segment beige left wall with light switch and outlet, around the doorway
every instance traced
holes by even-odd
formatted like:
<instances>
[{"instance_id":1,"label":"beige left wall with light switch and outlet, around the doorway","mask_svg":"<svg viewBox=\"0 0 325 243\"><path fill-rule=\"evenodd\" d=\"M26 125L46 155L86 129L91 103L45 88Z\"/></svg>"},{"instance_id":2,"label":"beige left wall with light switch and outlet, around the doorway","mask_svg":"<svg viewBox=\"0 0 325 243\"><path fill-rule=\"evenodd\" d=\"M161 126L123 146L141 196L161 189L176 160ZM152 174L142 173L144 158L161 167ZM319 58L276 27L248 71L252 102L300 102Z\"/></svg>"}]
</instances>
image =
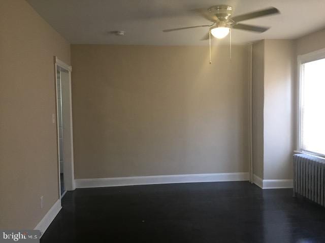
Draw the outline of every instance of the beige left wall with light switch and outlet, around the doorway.
<instances>
[{"instance_id":1,"label":"beige left wall with light switch and outlet, around the doorway","mask_svg":"<svg viewBox=\"0 0 325 243\"><path fill-rule=\"evenodd\" d=\"M0 29L0 228L32 229L58 199L53 56L70 45L24 0L0 1Z\"/></svg>"}]
</instances>

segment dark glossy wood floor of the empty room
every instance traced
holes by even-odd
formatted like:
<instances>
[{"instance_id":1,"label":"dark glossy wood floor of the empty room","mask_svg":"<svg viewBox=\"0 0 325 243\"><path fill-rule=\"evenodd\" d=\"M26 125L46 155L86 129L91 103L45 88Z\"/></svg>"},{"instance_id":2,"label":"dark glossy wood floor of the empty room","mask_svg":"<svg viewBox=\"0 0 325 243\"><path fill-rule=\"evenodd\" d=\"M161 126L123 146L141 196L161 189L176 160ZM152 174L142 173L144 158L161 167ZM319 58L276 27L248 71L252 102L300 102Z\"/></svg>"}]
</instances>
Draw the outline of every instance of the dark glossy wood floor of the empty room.
<instances>
[{"instance_id":1,"label":"dark glossy wood floor of the empty room","mask_svg":"<svg viewBox=\"0 0 325 243\"><path fill-rule=\"evenodd\" d=\"M325 209L249 182L76 189L41 242L325 242Z\"/></svg>"}]
</instances>

